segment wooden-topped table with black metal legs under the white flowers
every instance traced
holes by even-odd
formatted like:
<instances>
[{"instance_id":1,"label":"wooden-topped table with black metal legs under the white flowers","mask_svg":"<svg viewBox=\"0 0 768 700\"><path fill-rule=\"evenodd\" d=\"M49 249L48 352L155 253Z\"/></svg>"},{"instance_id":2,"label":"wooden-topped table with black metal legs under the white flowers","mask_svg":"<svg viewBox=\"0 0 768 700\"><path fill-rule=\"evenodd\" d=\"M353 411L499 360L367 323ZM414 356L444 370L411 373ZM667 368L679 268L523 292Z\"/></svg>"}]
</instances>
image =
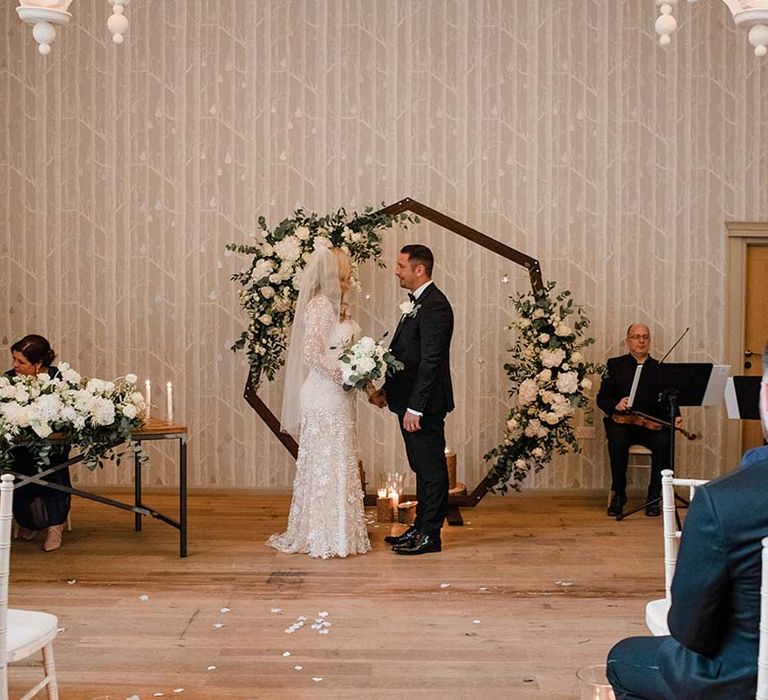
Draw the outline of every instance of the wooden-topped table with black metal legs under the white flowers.
<instances>
[{"instance_id":1,"label":"wooden-topped table with black metal legs under the white flowers","mask_svg":"<svg viewBox=\"0 0 768 700\"><path fill-rule=\"evenodd\" d=\"M46 488L51 488L56 491L63 491L74 496L80 496L81 498L87 498L91 501L103 503L107 506L114 508L121 508L123 510L131 511L134 514L133 526L137 532L141 530L141 518L143 516L151 516L157 520L160 520L171 527L176 528L179 531L179 556L187 556L187 428L184 425L178 423L171 423L165 420L159 420L157 418L151 418L141 428L134 430L131 433L131 444L138 446L142 442L151 440L178 440L179 441L179 519L173 518L154 510L150 506L146 505L142 500L141 492L141 469L142 464L139 459L138 452L134 452L133 458L133 471L134 471L134 498L133 505L130 503L124 503L117 501L113 498L107 498L100 494L91 493L90 491L83 491L82 489L75 489L70 486L64 486L63 484L54 484L49 481L45 481L44 477L49 474L53 474L65 467L73 464L78 464L83 461L82 455L76 455L72 459L68 459L66 462L57 464L49 469L27 476L24 474L18 474L12 472L16 477L14 481L14 488L19 488L25 484L39 484Z\"/></svg>"}]
</instances>

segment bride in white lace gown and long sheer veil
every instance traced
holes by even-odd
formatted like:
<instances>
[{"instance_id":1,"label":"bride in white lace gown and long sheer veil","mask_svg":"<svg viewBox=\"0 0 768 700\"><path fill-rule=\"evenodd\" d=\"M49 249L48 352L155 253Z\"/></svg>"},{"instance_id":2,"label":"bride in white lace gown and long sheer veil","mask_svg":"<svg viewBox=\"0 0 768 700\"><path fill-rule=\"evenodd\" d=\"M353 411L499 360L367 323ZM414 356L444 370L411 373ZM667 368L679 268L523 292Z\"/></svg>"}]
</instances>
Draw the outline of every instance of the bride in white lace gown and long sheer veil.
<instances>
[{"instance_id":1,"label":"bride in white lace gown and long sheer veil","mask_svg":"<svg viewBox=\"0 0 768 700\"><path fill-rule=\"evenodd\" d=\"M341 385L341 348L359 326L344 297L352 265L339 248L317 247L301 278L286 362L281 429L298 435L288 529L267 544L311 557L370 548L357 466L354 392Z\"/></svg>"}]
</instances>

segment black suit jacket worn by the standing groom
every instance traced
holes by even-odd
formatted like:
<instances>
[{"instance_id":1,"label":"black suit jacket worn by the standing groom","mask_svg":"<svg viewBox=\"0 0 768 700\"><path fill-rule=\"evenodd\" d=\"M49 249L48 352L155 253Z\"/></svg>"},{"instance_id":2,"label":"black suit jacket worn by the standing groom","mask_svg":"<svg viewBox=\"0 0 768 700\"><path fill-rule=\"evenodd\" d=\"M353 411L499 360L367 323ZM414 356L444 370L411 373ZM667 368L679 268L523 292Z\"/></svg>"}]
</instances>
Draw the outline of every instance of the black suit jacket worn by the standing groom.
<instances>
[{"instance_id":1,"label":"black suit jacket worn by the standing groom","mask_svg":"<svg viewBox=\"0 0 768 700\"><path fill-rule=\"evenodd\" d=\"M419 413L445 415L454 408L453 310L434 282L421 293L415 308L415 314L400 320L392 337L392 354L405 367L387 377L387 403L397 414L411 408Z\"/></svg>"}]
</instances>

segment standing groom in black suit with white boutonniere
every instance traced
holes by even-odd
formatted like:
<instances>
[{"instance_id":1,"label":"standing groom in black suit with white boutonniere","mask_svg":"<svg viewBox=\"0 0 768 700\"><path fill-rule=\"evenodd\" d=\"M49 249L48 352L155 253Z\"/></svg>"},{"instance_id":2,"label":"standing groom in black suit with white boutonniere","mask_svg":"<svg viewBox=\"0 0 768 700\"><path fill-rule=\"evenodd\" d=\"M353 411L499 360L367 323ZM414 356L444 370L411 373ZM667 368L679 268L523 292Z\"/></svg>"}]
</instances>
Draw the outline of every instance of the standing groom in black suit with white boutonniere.
<instances>
[{"instance_id":1,"label":"standing groom in black suit with white boutonniere","mask_svg":"<svg viewBox=\"0 0 768 700\"><path fill-rule=\"evenodd\" d=\"M405 367L387 377L371 397L397 414L408 464L416 473L416 521L399 537L385 537L398 554L439 552L448 506L445 416L453 410L450 346L453 310L432 282L432 251L423 245L400 250L395 276L408 301L392 338L392 354Z\"/></svg>"}]
</instances>

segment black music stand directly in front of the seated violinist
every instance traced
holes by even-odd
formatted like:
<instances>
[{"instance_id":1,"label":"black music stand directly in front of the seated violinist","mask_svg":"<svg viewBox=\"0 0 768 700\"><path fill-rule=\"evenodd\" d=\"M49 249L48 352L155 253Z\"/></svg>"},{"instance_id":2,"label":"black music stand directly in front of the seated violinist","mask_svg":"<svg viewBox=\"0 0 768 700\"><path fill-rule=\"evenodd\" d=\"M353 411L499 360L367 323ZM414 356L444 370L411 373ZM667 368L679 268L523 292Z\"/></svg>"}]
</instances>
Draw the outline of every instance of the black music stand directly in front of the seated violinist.
<instances>
[{"instance_id":1,"label":"black music stand directly in front of the seated violinist","mask_svg":"<svg viewBox=\"0 0 768 700\"><path fill-rule=\"evenodd\" d=\"M675 362L645 364L636 386L633 386L632 408L651 415L666 415L669 422L669 466L675 471L675 418L680 406L711 406L718 403L725 391L728 365L711 362ZM675 498L688 505L688 501L675 494ZM646 501L616 520L628 518L639 510L661 502L661 496Z\"/></svg>"}]
</instances>

